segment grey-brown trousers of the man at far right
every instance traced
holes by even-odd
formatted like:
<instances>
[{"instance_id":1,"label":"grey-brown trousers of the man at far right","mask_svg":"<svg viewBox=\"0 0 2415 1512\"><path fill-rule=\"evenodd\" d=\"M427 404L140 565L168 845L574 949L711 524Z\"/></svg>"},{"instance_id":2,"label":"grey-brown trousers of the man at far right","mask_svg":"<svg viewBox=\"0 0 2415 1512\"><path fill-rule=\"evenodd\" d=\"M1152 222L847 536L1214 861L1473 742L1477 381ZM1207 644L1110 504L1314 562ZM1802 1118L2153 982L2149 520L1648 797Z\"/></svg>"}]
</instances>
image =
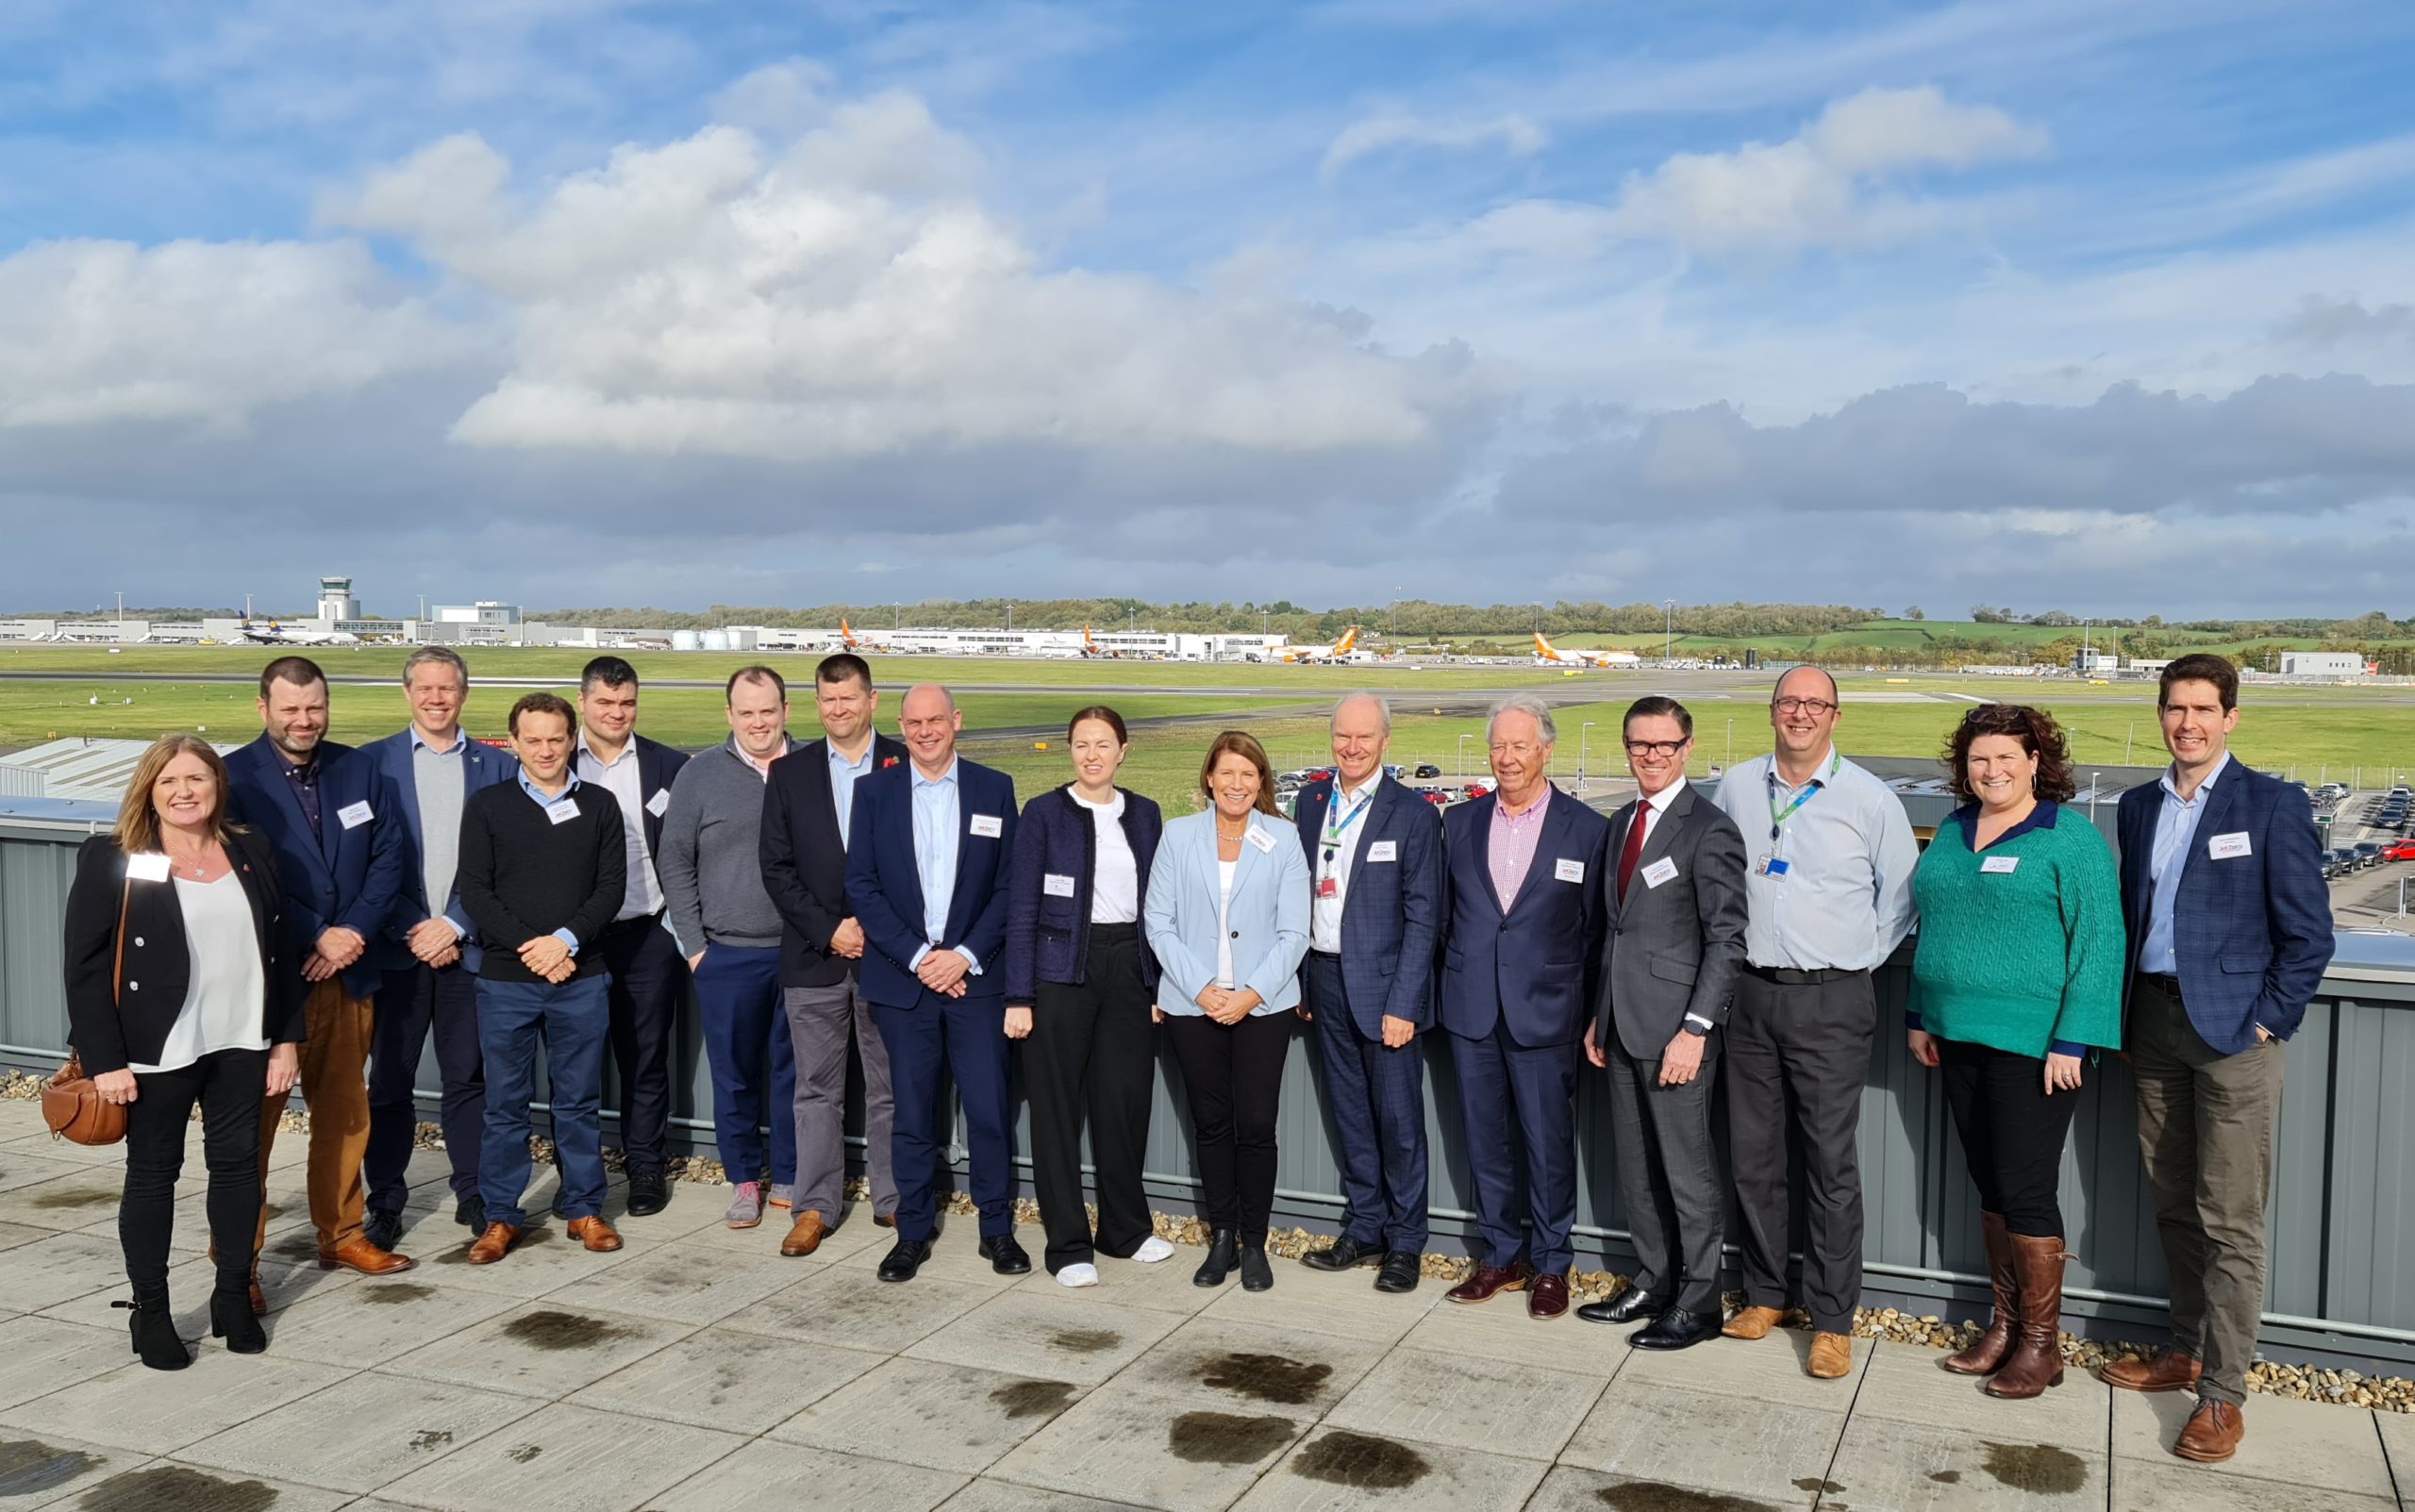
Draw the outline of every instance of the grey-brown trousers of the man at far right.
<instances>
[{"instance_id":1,"label":"grey-brown trousers of the man at far right","mask_svg":"<svg viewBox=\"0 0 2415 1512\"><path fill-rule=\"evenodd\" d=\"M2263 1319L2282 1043L2224 1056L2178 998L2147 981L2130 995L2128 1041L2137 1152L2171 1285L2171 1343L2198 1357L2198 1396L2241 1406Z\"/></svg>"}]
</instances>

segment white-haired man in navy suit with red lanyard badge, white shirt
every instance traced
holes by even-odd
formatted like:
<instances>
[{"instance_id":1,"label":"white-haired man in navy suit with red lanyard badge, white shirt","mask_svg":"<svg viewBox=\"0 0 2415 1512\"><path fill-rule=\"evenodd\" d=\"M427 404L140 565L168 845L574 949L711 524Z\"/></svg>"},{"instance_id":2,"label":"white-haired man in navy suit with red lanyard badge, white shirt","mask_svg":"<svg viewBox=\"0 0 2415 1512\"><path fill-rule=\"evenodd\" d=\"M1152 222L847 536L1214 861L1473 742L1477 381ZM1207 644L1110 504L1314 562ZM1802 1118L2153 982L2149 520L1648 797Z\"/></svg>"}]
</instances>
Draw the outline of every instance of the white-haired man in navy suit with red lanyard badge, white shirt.
<instances>
[{"instance_id":1,"label":"white-haired man in navy suit with red lanyard badge, white shirt","mask_svg":"<svg viewBox=\"0 0 2415 1512\"><path fill-rule=\"evenodd\" d=\"M1343 1169L1343 1232L1311 1270L1379 1266L1379 1292L1413 1292L1425 1256L1425 1051L1442 937L1442 816L1384 775L1391 708L1333 705L1333 773L1299 792L1309 857L1302 1014L1316 1024Z\"/></svg>"}]
</instances>

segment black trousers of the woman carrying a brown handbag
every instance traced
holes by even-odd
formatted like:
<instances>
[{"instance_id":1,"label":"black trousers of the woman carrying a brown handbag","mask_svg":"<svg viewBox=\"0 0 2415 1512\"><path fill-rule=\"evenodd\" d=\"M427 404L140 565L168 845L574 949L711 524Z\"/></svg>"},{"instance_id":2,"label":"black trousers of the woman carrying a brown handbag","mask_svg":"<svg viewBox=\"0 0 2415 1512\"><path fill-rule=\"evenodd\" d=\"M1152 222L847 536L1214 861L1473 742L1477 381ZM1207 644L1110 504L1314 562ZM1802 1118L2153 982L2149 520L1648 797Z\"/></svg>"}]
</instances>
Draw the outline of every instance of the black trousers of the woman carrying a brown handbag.
<instances>
[{"instance_id":1,"label":"black trousers of the woman carrying a brown handbag","mask_svg":"<svg viewBox=\"0 0 2415 1512\"><path fill-rule=\"evenodd\" d=\"M210 1167L210 1244L217 1285L251 1278L251 1232L261 1222L261 1097L268 1051L213 1051L193 1065L135 1075L126 1104L126 1196L118 1200L118 1244L126 1280L167 1285L167 1241L176 1227L176 1179L184 1176L184 1135L200 1104L200 1155Z\"/></svg>"}]
</instances>

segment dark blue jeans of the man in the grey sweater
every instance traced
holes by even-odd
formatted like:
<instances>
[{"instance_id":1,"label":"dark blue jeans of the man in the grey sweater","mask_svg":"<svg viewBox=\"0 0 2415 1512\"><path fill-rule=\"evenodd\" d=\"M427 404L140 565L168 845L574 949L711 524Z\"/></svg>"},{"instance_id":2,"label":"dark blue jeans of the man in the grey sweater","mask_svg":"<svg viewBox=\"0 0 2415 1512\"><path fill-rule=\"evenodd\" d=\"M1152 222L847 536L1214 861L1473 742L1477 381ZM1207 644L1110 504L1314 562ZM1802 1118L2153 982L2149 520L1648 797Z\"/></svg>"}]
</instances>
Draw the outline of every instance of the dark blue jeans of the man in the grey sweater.
<instances>
[{"instance_id":1,"label":"dark blue jeans of the man in the grey sweater","mask_svg":"<svg viewBox=\"0 0 2415 1512\"><path fill-rule=\"evenodd\" d=\"M696 1012L722 1171L732 1184L758 1181L770 1123L770 1179L797 1181L797 1046L780 998L780 947L708 944L696 964Z\"/></svg>"}]
</instances>

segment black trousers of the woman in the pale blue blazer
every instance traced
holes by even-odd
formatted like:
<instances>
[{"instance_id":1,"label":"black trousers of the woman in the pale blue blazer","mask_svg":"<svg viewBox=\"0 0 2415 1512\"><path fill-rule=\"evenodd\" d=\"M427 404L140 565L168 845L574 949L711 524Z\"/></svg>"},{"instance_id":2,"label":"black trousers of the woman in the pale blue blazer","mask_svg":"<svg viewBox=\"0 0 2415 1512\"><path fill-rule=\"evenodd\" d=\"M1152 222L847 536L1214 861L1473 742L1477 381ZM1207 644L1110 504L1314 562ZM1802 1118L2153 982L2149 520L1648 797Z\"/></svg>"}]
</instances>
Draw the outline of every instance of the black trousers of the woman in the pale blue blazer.
<instances>
[{"instance_id":1,"label":"black trousers of the woman in the pale blue blazer","mask_svg":"<svg viewBox=\"0 0 2415 1512\"><path fill-rule=\"evenodd\" d=\"M1208 1225L1239 1229L1249 1249L1265 1246L1265 1215L1275 1208L1275 1109L1292 1022L1290 1012L1251 1014L1232 1027L1208 1014L1166 1014L1200 1147Z\"/></svg>"}]
</instances>

